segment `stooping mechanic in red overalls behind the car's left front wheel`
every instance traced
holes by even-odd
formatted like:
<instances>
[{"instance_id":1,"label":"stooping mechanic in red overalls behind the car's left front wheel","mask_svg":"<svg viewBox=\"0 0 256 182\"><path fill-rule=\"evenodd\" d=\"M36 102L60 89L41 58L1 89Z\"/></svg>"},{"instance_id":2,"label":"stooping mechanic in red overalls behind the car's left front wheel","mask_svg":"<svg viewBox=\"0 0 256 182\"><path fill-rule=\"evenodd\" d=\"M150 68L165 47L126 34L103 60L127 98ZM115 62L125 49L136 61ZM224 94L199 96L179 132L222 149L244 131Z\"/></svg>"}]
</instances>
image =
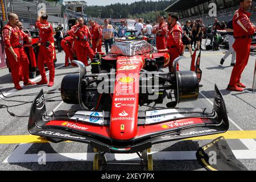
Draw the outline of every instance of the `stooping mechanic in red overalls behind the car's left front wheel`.
<instances>
[{"instance_id":1,"label":"stooping mechanic in red overalls behind the car's left front wheel","mask_svg":"<svg viewBox=\"0 0 256 182\"><path fill-rule=\"evenodd\" d=\"M67 36L60 42L60 46L65 52L65 67L68 67L68 58L70 61L73 60L73 38L72 36Z\"/></svg>"}]
</instances>

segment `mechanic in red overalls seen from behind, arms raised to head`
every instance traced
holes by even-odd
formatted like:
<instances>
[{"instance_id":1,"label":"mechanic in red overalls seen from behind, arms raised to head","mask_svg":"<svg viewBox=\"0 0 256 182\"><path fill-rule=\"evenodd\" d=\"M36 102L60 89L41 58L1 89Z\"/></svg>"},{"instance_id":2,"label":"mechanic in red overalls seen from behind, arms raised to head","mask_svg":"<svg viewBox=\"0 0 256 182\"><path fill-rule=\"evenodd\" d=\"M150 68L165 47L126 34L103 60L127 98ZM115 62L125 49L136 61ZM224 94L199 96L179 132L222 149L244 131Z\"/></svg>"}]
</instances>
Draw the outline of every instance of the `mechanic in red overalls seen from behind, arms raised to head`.
<instances>
[{"instance_id":1,"label":"mechanic in red overalls seen from behind, arms raised to head","mask_svg":"<svg viewBox=\"0 0 256 182\"><path fill-rule=\"evenodd\" d=\"M38 85L44 85L48 83L46 77L46 70L44 69L44 63L46 63L49 69L49 83L48 86L54 84L55 68L53 63L54 56L54 40L53 40L53 28L52 25L47 22L48 15L45 11L39 13L36 20L36 27L39 29L40 36L40 48L38 53L38 69L40 71L42 80L36 82Z\"/></svg>"}]
</instances>

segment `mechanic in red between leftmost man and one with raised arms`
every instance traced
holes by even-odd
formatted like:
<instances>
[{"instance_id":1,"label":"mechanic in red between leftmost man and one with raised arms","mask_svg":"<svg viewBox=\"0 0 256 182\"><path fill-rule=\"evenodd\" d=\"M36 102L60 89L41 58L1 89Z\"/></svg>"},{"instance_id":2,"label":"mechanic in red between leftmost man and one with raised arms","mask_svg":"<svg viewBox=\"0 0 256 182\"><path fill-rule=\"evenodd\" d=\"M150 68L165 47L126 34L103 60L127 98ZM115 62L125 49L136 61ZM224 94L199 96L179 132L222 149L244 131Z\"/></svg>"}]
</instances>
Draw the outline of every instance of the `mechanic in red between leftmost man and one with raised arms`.
<instances>
[{"instance_id":1,"label":"mechanic in red between leftmost man and one with raised arms","mask_svg":"<svg viewBox=\"0 0 256 182\"><path fill-rule=\"evenodd\" d=\"M29 79L29 65L30 61L28 60L27 54L24 51L23 47L23 40L28 41L28 43L31 43L31 37L27 35L25 32L22 30L22 22L18 22L16 26L19 28L20 34L22 35L22 40L20 40L20 68L19 68L19 78L20 80L23 80L25 85L35 85L35 82L30 81Z\"/></svg>"}]
</instances>

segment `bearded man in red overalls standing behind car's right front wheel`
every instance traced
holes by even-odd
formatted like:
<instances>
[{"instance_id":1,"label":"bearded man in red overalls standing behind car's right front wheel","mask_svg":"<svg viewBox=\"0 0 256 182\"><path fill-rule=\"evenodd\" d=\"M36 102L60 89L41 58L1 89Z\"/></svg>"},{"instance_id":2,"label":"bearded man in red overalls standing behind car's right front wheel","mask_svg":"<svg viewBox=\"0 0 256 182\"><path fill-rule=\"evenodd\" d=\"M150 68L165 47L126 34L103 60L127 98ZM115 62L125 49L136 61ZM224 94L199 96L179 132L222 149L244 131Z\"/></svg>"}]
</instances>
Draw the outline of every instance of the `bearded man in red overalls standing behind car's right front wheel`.
<instances>
[{"instance_id":1,"label":"bearded man in red overalls standing behind car's right front wheel","mask_svg":"<svg viewBox=\"0 0 256 182\"><path fill-rule=\"evenodd\" d=\"M172 63L174 60L183 54L183 43L182 43L182 28L177 24L179 16L176 13L168 15L168 23L170 28L167 34L167 48L170 54L169 71L172 70ZM177 64L177 71L179 71L179 64Z\"/></svg>"}]
</instances>

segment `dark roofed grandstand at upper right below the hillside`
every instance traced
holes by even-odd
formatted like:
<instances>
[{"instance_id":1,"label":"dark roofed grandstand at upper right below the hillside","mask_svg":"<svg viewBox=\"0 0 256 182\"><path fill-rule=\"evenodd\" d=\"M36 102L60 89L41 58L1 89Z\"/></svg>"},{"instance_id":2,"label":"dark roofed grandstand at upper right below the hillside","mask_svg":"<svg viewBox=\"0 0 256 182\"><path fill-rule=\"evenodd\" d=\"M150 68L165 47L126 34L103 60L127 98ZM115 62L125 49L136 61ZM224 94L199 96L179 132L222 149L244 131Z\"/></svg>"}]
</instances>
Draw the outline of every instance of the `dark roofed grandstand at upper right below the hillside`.
<instances>
[{"instance_id":1,"label":"dark roofed grandstand at upper right below the hillside","mask_svg":"<svg viewBox=\"0 0 256 182\"><path fill-rule=\"evenodd\" d=\"M239 0L177 0L164 11L176 12L180 16L180 22L185 23L190 19L203 19L205 26L213 23L214 18L220 22L228 22L233 18L234 11L238 9ZM209 16L210 3L217 5L217 16ZM251 22L256 23L255 1L251 7Z\"/></svg>"}]
</instances>

